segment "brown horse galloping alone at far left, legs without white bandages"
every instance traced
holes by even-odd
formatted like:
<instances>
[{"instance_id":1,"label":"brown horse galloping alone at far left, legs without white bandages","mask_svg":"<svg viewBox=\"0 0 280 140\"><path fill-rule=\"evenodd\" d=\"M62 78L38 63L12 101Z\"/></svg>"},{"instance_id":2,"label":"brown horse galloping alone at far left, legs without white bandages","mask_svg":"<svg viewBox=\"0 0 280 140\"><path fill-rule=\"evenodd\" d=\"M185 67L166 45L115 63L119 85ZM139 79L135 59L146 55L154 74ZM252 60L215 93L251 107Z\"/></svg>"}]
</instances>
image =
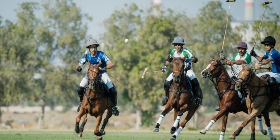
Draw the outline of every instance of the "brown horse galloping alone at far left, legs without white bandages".
<instances>
[{"instance_id":1,"label":"brown horse galloping alone at far left, legs without white bandages","mask_svg":"<svg viewBox=\"0 0 280 140\"><path fill-rule=\"evenodd\" d=\"M98 65L91 65L88 62L88 87L86 88L85 95L83 96L82 100L82 106L76 118L75 132L78 133L78 137L82 137L82 132L87 121L87 114L96 117L96 127L93 133L98 136L98 140L101 140L102 135L105 135L104 128L108 123L109 118L112 116L111 101L104 95L104 93L102 93L100 87L101 77L99 75L98 69L100 64L101 61L98 63ZM99 125L101 123L102 115L104 114L105 110L107 110L107 115L99 131ZM83 122L79 128L79 123L83 115L85 116L83 117Z\"/></svg>"}]
</instances>

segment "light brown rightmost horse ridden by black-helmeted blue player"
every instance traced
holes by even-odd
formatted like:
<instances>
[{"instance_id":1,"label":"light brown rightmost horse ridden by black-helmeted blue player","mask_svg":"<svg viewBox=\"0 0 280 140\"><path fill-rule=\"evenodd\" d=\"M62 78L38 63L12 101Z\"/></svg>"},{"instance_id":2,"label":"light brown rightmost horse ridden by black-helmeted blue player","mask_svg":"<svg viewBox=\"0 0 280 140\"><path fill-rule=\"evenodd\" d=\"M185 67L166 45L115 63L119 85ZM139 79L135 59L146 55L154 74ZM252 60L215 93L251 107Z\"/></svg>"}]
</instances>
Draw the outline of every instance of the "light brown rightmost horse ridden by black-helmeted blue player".
<instances>
[{"instance_id":1,"label":"light brown rightmost horse ridden by black-helmeted blue player","mask_svg":"<svg viewBox=\"0 0 280 140\"><path fill-rule=\"evenodd\" d=\"M266 83L255 75L254 71L251 70L252 66L244 67L242 63L242 70L239 72L238 82L235 84L235 89L239 91L242 86L248 86L250 93L247 95L246 105L248 107L249 116L243 121L241 126L229 137L230 139L235 139L236 136L240 134L242 129L251 122L251 139L252 135L255 134L255 118L260 115L265 109L269 102L268 87ZM271 107L267 112L275 111L278 116L280 116L280 105L278 100L274 100ZM268 119L269 120L269 119ZM268 125L269 137L271 140L276 138L273 136L270 123Z\"/></svg>"}]
</instances>

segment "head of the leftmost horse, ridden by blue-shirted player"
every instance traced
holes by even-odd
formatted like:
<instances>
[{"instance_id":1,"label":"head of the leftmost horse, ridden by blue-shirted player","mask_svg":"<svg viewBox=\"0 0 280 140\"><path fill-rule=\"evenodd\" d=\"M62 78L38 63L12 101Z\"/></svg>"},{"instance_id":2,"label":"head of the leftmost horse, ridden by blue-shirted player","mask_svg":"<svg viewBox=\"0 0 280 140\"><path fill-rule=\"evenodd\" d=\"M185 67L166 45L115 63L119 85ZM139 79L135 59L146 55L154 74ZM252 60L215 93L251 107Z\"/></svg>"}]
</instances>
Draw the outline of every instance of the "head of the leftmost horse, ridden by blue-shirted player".
<instances>
[{"instance_id":1,"label":"head of the leftmost horse, ridden by blue-shirted player","mask_svg":"<svg viewBox=\"0 0 280 140\"><path fill-rule=\"evenodd\" d=\"M99 67L101 65L101 61L96 65L92 65L91 63L88 62L89 68L88 68L88 87L89 89L94 89L96 85L99 84Z\"/></svg>"}]
</instances>

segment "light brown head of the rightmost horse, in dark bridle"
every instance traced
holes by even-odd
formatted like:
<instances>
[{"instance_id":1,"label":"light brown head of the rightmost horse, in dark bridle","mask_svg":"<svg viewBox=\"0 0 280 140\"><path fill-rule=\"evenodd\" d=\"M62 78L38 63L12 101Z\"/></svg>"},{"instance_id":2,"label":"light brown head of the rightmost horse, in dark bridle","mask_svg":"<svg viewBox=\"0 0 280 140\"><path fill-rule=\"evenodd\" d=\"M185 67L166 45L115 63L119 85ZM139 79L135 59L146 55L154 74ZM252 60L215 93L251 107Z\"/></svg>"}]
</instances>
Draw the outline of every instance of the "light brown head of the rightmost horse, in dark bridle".
<instances>
[{"instance_id":1,"label":"light brown head of the rightmost horse, in dark bridle","mask_svg":"<svg viewBox=\"0 0 280 140\"><path fill-rule=\"evenodd\" d=\"M245 67L242 62L241 65L242 65L242 70L239 72L239 78L235 84L236 91L240 91L242 89L242 86L248 85L254 76L254 72L253 70L251 70L253 64L251 64L251 66L249 67Z\"/></svg>"}]
</instances>

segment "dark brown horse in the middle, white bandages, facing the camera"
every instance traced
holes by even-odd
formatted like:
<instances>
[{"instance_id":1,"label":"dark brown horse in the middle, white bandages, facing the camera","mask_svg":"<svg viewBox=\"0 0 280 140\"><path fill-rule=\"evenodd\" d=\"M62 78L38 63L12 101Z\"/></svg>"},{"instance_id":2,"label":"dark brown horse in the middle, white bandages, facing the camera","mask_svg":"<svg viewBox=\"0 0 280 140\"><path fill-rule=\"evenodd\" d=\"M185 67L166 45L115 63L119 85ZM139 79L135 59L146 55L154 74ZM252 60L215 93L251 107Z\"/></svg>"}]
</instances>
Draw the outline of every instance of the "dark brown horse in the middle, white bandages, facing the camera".
<instances>
[{"instance_id":1,"label":"dark brown horse in the middle, white bandages, facing the camera","mask_svg":"<svg viewBox=\"0 0 280 140\"><path fill-rule=\"evenodd\" d=\"M185 77L184 70L188 70L190 68L190 64L188 64L188 68L184 66L184 58L175 58L173 56L173 82L169 89L169 96L168 102L165 106L165 109L161 112L161 115L156 122L156 126L154 128L154 132L159 131L159 126L164 118L164 116L169 113L172 109L174 109L174 124L170 129L170 133L174 134L170 140L175 140L179 133L183 130L186 123L191 119L194 115L195 111L197 110L198 106L195 105L194 100L192 100L192 90L190 79ZM200 92L200 99L202 100L203 95L201 89ZM184 121L179 126L180 118L182 117L183 113L188 111L188 114ZM177 129L177 130L176 130Z\"/></svg>"}]
</instances>

